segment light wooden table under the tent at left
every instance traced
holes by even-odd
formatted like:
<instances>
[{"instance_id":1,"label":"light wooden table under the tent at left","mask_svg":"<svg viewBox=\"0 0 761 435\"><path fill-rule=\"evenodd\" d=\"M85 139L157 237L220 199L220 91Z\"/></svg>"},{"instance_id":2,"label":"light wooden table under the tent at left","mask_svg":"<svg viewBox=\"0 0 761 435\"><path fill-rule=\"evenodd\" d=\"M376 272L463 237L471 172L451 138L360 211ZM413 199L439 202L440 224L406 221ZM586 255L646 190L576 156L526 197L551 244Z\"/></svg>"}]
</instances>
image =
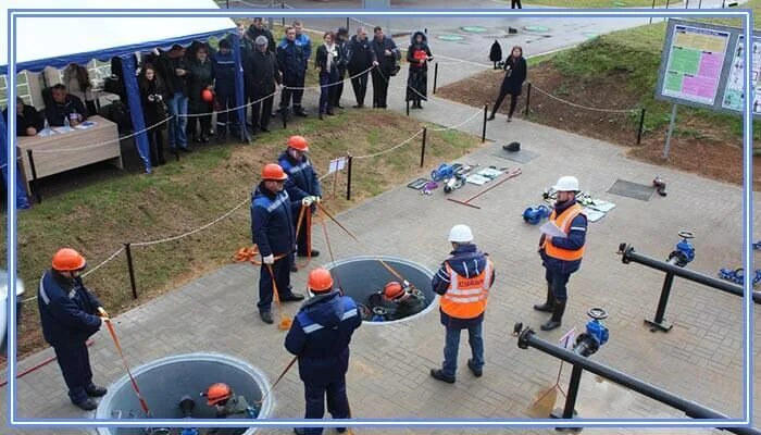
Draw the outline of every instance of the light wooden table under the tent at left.
<instances>
[{"instance_id":1,"label":"light wooden table under the tent at left","mask_svg":"<svg viewBox=\"0 0 761 435\"><path fill-rule=\"evenodd\" d=\"M55 133L46 137L37 135L17 138L16 145L22 156L27 191L29 181L34 178L28 150L32 150L37 178L103 160L110 160L116 167L124 169L116 124L98 115L90 116L87 121L95 122L96 125L87 129L72 128L70 132ZM53 130L57 128L63 127L51 127Z\"/></svg>"}]
</instances>

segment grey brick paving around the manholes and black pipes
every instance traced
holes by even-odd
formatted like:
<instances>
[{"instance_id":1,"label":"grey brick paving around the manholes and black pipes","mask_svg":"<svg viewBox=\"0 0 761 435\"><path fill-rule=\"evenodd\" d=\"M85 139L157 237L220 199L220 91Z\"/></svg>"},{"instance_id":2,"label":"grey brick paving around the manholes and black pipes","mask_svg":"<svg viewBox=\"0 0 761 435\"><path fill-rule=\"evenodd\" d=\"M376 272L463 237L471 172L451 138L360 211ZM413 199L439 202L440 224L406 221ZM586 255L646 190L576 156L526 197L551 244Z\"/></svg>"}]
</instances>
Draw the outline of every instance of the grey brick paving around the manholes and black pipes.
<instances>
[{"instance_id":1,"label":"grey brick paving around the manholes and black pipes","mask_svg":"<svg viewBox=\"0 0 761 435\"><path fill-rule=\"evenodd\" d=\"M469 74L454 70L439 76L446 84ZM404 73L392 87L404 83ZM391 110L402 111L401 91L392 92ZM351 97L350 87L345 94ZM308 95L314 104L314 92ZM465 120L474 108L433 99L425 110L414 111L422 121L453 125ZM461 127L479 135L476 117ZM389 326L365 326L352 343L348 375L352 411L358 418L528 418L545 417L546 407L533 406L553 384L558 361L536 350L521 350L509 333L515 322L537 327L545 320L532 310L544 296L542 269L535 251L538 229L521 220L521 212L540 202L544 188L559 175L577 174L585 189L613 201L617 207L598 223L590 224L587 256L583 269L570 284L571 300L562 331L540 333L558 339L571 326L582 328L590 307L610 313L606 322L611 339L592 358L672 393L696 400L733 417L741 407L741 311L734 296L678 281L669 303L668 319L675 326L669 334L652 334L643 319L651 318L658 302L663 275L641 265L621 263L615 254L622 241L638 251L665 257L677 241L679 229L697 234L697 258L691 270L713 275L719 268L741 261L741 191L738 186L700 178L626 159L624 148L523 122L508 124L503 117L488 124L489 142L460 159L462 162L515 167L519 164L495 157L506 140L517 140L539 157L521 165L523 174L478 198L481 210L445 200L441 191L421 196L399 187L346 211L339 219L372 252L330 226L332 244L339 258L354 254L391 254L416 261L432 270L448 252L446 234L456 223L473 227L476 241L491 254L498 278L486 316L486 361L482 378L462 370L467 358L463 343L460 372L454 385L428 376L428 369L440 364L444 331L434 311L411 322ZM417 145L410 145L417 146ZM436 144L428 144L436 147ZM433 162L432 162L433 163ZM435 162L438 164L438 162ZM362 162L355 172L363 171ZM616 178L648 184L656 174L669 183L669 196L653 196L644 202L607 194ZM425 171L421 172L425 175ZM406 182L406 181L402 181ZM481 188L467 185L454 197L469 197ZM756 210L761 210L757 207ZM757 215L758 217L758 215ZM212 229L213 231L213 229ZM203 233L211 237L211 233ZM324 239L315 236L315 247L326 251ZM326 260L325 260L326 261ZM289 360L283 349L285 334L264 325L255 312L254 285L258 270L230 264L117 316L117 332L127 359L137 366L154 359L194 351L217 351L250 361L274 380ZM303 288L305 272L294 276L295 287ZM297 307L287 306L289 313ZM757 311L758 313L758 311ZM202 320L202 321L199 321ZM234 324L237 334L230 335ZM761 332L761 323L754 333ZM103 384L123 375L108 335L101 332L91 348L96 380ZM46 349L20 362L23 370L51 356ZM754 352L758 360L759 351ZM567 382L569 370L563 375ZM758 365L756 375L760 373ZM757 388L758 390L758 388ZM296 372L275 391L275 418L300 418L303 391ZM758 397L758 394L757 394ZM7 396L2 395L0 403ZM22 418L90 417L72 407L55 364L29 374L17 383ZM559 401L560 402L560 401ZM457 403L457 407L453 405ZM4 408L4 407L3 407ZM681 412L620 388L594 375L584 377L577 410L589 418L682 418ZM756 417L761 415L756 410ZM4 421L4 413L2 419ZM84 431L52 431L68 434ZM388 433L362 428L361 434ZM404 432L400 430L399 432ZM471 434L504 433L470 428L407 430L407 433ZM507 431L526 433L525 430ZM673 430L585 430L585 433L678 433ZM709 430L681 431L708 433ZM4 433L25 433L10 431ZM29 432L30 433L30 432ZM86 433L86 432L85 432ZM266 430L262 433L289 433ZM554 433L552 430L533 433Z\"/></svg>"}]
</instances>

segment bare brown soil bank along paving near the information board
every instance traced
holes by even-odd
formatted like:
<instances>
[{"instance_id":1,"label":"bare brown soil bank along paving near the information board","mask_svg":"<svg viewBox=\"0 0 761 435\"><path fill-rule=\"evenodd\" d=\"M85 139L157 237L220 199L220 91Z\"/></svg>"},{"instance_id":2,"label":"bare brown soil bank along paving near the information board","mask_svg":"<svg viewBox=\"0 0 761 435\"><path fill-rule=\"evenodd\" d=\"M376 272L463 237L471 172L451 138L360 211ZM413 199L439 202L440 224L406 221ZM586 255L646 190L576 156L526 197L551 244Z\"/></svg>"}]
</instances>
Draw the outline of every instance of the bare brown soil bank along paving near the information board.
<instances>
[{"instance_id":1,"label":"bare brown soil bank along paving near the information board","mask_svg":"<svg viewBox=\"0 0 761 435\"><path fill-rule=\"evenodd\" d=\"M515 116L624 146L627 148L626 156L633 159L737 185L743 184L743 141L723 125L691 116L689 110L683 110L678 114L669 160L662 157L665 127L644 132L641 142L637 145L639 96L622 88L622 83L625 83L623 74L625 73L596 77L594 82L570 80L550 64L542 63L531 71L528 116L525 116L527 86L524 86ZM501 71L485 71L447 85L436 95L474 107L483 107L484 103L491 105L502 76ZM547 94L556 98L548 97ZM509 101L510 97L502 103L500 113L508 113ZM611 113L579 105L635 110ZM761 164L761 158L753 158L753 164ZM761 189L761 172L753 174L753 189Z\"/></svg>"}]
</instances>

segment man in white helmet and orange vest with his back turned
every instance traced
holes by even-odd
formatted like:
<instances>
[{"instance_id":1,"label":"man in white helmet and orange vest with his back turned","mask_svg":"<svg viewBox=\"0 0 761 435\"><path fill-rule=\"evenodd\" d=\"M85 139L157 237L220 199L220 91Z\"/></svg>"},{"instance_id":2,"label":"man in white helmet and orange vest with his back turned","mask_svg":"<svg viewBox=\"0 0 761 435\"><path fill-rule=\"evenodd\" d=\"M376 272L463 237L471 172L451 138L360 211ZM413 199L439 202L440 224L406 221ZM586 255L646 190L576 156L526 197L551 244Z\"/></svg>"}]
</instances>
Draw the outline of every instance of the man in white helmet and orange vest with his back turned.
<instances>
[{"instance_id":1,"label":"man in white helmet and orange vest with his back turned","mask_svg":"<svg viewBox=\"0 0 761 435\"><path fill-rule=\"evenodd\" d=\"M453 248L452 257L441 263L431 282L434 291L441 295L439 311L447 331L444 365L431 369L431 376L453 384L462 330L467 330L473 352L467 368L476 377L484 373L484 312L489 288L495 282L495 268L473 243L473 233L467 225L452 226L449 241Z\"/></svg>"}]
</instances>

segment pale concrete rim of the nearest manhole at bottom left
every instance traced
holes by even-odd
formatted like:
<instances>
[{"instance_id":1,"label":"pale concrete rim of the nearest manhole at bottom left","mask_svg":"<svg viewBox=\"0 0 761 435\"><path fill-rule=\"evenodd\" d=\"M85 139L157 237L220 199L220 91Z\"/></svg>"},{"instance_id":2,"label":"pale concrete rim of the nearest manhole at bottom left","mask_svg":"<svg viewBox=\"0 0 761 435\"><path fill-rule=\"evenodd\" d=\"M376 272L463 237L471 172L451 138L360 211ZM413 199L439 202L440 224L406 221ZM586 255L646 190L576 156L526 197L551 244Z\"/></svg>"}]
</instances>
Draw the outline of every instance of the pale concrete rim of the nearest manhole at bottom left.
<instances>
[{"instance_id":1,"label":"pale concrete rim of the nearest manhole at bottom left","mask_svg":"<svg viewBox=\"0 0 761 435\"><path fill-rule=\"evenodd\" d=\"M225 353L220 353L220 352L191 352L191 353L180 353L180 355L173 355L164 358L159 358L157 360L147 362L145 364L141 364L137 366L136 369L130 369L133 377L136 380L139 377L140 374L146 373L149 370L153 370L160 366L164 366L171 363L176 363L176 362L184 362L191 359L192 361L201 361L201 362L216 362L216 363L226 363L228 365L235 366L236 369L239 369L247 374L251 375L257 384L260 386L260 390L262 394L266 394L272 387L270 384L270 378L267 375L261 371L260 369L255 368L254 365L238 359L238 358L233 358L228 355ZM124 374L116 381L112 382L109 384L109 393L107 393L105 396L103 396L102 399L98 402L98 408L95 412L93 419L95 420L115 420L111 415L102 415L100 413L100 410L104 410L105 407L101 407L104 403L110 405L111 399L113 399L113 396L116 394L117 389L121 389L122 386L128 386L129 385L129 375ZM120 385L120 388L111 388L114 385ZM139 384L138 384L139 385ZM266 419L270 417L272 413L273 409L275 408L275 397L272 394L269 394L264 398L264 402L262 403L261 409L259 410L259 417L258 419ZM103 411L105 412L105 411ZM125 420L124 418L118 419L118 420ZM167 419L165 419L167 420ZM172 420L172 419L169 419ZM179 420L183 421L183 420ZM98 431L98 435L114 435L114 433L111 431L112 428L118 428L118 427L96 427ZM257 433L259 427L249 427L244 435L252 435Z\"/></svg>"}]
</instances>

